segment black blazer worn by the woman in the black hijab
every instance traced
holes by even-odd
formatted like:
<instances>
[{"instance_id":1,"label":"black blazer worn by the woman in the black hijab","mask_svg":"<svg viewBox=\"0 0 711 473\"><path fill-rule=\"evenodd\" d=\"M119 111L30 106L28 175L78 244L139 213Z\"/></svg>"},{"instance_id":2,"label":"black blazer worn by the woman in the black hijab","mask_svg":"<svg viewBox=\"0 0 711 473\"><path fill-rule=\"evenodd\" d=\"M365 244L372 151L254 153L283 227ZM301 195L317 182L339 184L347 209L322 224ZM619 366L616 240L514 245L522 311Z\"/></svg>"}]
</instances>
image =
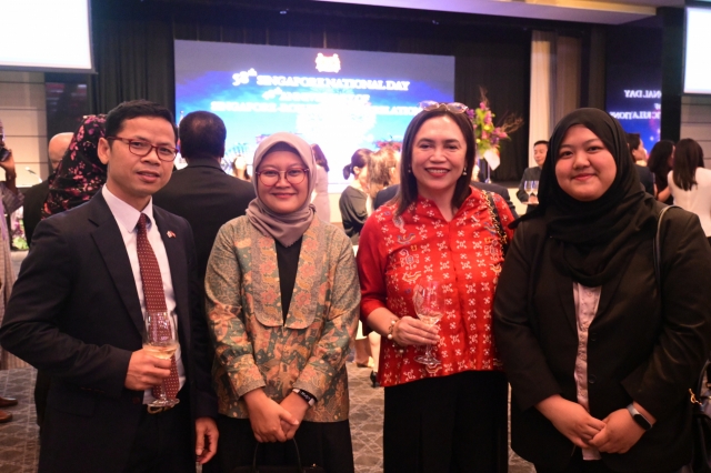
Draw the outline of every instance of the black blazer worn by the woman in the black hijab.
<instances>
[{"instance_id":1,"label":"black blazer worn by the woman in the black hijab","mask_svg":"<svg viewBox=\"0 0 711 473\"><path fill-rule=\"evenodd\" d=\"M518 227L497 289L494 336L512 386L512 449L562 471L574 446L534 407L553 394L577 402L573 281L553 265L551 242L542 219ZM664 215L661 245L661 294L649 239L602 286L589 329L591 415L602 420L634 400L658 420L629 452L602 454L619 472L675 471L691 456L688 389L711 344L711 249L699 218L681 209Z\"/></svg>"}]
</instances>

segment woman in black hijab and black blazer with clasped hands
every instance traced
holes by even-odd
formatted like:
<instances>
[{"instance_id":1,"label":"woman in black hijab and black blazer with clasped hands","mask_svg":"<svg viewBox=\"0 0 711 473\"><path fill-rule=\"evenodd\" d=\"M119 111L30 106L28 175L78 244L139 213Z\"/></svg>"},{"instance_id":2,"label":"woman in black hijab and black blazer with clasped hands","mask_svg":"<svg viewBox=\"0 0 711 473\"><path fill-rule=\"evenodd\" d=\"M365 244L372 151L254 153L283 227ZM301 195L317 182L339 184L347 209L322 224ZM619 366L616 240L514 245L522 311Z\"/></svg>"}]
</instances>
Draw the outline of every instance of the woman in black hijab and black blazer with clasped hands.
<instances>
[{"instance_id":1,"label":"woman in black hijab and black blazer with clasped hands","mask_svg":"<svg viewBox=\"0 0 711 473\"><path fill-rule=\"evenodd\" d=\"M711 344L711 250L699 219L639 184L620 123L561 120L539 208L521 219L494 303L513 450L539 472L671 472L691 456L693 386Z\"/></svg>"}]
</instances>

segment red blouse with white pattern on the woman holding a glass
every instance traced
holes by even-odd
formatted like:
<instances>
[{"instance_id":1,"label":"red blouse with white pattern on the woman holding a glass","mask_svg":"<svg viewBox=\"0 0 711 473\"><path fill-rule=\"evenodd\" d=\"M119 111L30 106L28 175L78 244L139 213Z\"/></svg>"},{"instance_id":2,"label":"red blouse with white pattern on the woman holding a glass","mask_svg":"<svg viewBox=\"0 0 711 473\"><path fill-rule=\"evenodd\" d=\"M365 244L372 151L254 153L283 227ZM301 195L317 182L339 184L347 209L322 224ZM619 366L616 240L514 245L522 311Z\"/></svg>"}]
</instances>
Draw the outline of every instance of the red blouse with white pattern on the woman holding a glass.
<instances>
[{"instance_id":1,"label":"red blouse with white pattern on the woman holding a glass","mask_svg":"<svg viewBox=\"0 0 711 473\"><path fill-rule=\"evenodd\" d=\"M513 232L508 225L513 217L503 199L492 195L510 241ZM440 369L429 373L414 361L424 346L400 349L383 336L378 373L381 385L501 370L491 316L503 248L482 191L472 189L450 222L432 201L422 198L399 217L395 205L382 205L363 227L357 259L363 322L379 308L398 316L417 316L412 291L421 278L439 280L445 294L440 342L432 348L442 362Z\"/></svg>"}]
</instances>

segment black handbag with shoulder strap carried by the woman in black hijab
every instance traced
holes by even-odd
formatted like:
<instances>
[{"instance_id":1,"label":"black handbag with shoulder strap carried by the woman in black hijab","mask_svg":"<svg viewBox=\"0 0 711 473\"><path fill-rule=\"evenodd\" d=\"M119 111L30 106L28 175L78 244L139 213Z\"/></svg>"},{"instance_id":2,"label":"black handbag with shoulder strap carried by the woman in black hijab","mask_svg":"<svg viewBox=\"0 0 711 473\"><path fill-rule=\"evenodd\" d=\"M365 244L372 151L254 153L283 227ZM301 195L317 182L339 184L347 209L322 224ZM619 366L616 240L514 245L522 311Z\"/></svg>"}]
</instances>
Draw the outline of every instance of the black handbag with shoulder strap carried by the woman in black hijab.
<instances>
[{"instance_id":1,"label":"black handbag with shoulder strap carried by the woman in black hijab","mask_svg":"<svg viewBox=\"0 0 711 473\"><path fill-rule=\"evenodd\" d=\"M670 205L662 209L659 213L657 221L657 236L654 236L654 275L657 276L657 284L659 285L659 293L661 294L661 244L660 235L662 228L662 218L664 213L671 209ZM711 383L709 380L704 383L704 375L707 374L711 362L707 360L703 365L703 370L699 374L699 380L695 385L695 391L689 389L691 401L691 436L693 442L693 454L691 456L691 463L683 466L677 473L711 473Z\"/></svg>"}]
</instances>

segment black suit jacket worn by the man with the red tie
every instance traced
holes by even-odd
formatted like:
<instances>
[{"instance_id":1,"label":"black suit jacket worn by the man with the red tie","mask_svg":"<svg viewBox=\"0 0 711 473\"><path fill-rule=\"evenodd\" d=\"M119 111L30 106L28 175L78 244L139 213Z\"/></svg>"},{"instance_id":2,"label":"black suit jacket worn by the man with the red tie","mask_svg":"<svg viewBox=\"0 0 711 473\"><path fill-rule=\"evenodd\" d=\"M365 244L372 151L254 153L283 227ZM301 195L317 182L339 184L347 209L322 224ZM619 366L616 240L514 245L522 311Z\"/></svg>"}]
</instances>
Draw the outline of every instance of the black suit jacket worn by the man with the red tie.
<instances>
[{"instance_id":1,"label":"black suit jacket worn by the man with the red tie","mask_svg":"<svg viewBox=\"0 0 711 473\"><path fill-rule=\"evenodd\" d=\"M192 232L184 219L157 207L153 215L170 262L191 413L216 417ZM168 231L176 236L168 238ZM52 376L41 472L123 471L146 411L143 392L123 385L142 330L129 256L101 193L40 222L8 302L0 343Z\"/></svg>"}]
</instances>

